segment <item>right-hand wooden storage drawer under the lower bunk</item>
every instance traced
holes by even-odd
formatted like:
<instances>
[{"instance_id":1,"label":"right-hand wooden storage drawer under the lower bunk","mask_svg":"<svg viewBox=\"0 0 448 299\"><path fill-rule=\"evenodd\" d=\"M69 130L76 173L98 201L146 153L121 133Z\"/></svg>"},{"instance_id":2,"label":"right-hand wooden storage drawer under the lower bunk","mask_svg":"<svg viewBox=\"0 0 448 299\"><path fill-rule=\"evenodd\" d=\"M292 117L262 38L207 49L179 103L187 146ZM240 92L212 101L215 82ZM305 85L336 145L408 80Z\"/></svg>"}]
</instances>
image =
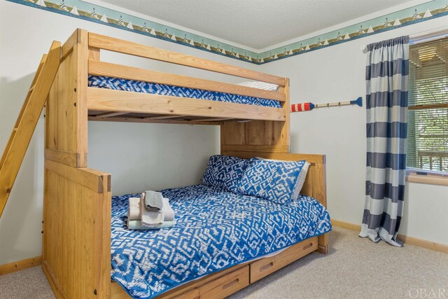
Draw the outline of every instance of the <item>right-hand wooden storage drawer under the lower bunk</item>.
<instances>
[{"instance_id":1,"label":"right-hand wooden storage drawer under the lower bunk","mask_svg":"<svg viewBox=\"0 0 448 299\"><path fill-rule=\"evenodd\" d=\"M293 261L306 256L308 253L315 251L318 248L317 239L318 237L305 239L302 242L294 244L288 249L281 251L281 253L276 256L262 258L250 263L251 283L279 270L289 263L293 263Z\"/></svg>"}]
</instances>

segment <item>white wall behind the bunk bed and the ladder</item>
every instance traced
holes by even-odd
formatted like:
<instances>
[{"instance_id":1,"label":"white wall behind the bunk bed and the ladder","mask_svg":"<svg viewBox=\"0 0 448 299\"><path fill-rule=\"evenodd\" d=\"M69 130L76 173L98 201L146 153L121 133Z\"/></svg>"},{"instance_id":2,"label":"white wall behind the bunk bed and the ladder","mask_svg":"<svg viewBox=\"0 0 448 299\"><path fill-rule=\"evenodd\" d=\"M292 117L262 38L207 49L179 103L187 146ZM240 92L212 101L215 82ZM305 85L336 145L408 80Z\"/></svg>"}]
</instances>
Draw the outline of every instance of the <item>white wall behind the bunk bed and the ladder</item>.
<instances>
[{"instance_id":1,"label":"white wall behind the bunk bed and the ladder","mask_svg":"<svg viewBox=\"0 0 448 299\"><path fill-rule=\"evenodd\" d=\"M76 28L176 50L246 68L239 62L147 36L0 1L0 152L6 146L41 55L52 40L66 41ZM162 62L104 53L105 61L200 78L235 78ZM210 155L219 153L215 126L89 123L89 167L110 172L114 194L198 183ZM0 265L41 254L43 199L43 116L36 128L3 216Z\"/></svg>"}]
</instances>

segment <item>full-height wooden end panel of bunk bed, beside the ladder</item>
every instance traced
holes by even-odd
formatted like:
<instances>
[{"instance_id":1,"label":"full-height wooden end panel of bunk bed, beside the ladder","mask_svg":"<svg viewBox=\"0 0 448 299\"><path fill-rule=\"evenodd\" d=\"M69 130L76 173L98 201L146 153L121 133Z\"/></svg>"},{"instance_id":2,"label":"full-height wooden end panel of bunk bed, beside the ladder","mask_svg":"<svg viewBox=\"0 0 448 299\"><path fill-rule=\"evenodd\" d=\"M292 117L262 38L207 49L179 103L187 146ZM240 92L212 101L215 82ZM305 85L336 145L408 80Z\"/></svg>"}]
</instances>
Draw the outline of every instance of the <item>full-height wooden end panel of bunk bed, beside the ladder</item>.
<instances>
[{"instance_id":1,"label":"full-height wooden end panel of bunk bed, beside the ladder","mask_svg":"<svg viewBox=\"0 0 448 299\"><path fill-rule=\"evenodd\" d=\"M87 168L85 30L64 43L45 108L42 268L57 298L110 298L111 176Z\"/></svg>"}]
</instances>

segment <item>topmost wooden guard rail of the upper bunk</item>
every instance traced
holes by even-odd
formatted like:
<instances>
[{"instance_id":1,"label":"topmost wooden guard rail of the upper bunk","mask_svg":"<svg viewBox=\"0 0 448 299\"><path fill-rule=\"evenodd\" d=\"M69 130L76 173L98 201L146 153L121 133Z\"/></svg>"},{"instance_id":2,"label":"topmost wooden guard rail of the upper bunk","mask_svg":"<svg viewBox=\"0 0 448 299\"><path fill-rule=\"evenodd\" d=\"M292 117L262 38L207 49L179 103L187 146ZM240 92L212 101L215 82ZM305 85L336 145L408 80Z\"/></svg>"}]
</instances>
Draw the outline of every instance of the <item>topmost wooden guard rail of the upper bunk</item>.
<instances>
[{"instance_id":1,"label":"topmost wooden guard rail of the upper bunk","mask_svg":"<svg viewBox=\"0 0 448 299\"><path fill-rule=\"evenodd\" d=\"M89 47L285 86L285 78L89 32Z\"/></svg>"}]
</instances>

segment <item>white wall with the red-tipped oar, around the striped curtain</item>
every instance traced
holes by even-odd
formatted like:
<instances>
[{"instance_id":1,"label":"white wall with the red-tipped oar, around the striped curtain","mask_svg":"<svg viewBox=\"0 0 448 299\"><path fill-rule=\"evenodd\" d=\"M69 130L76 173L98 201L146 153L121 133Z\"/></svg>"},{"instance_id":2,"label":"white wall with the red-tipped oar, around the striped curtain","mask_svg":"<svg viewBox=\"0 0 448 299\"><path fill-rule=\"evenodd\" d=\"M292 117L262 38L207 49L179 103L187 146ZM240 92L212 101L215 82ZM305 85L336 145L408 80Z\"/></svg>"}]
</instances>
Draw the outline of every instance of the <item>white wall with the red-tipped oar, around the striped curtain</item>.
<instances>
[{"instance_id":1,"label":"white wall with the red-tipped oar, around the striped curtain","mask_svg":"<svg viewBox=\"0 0 448 299\"><path fill-rule=\"evenodd\" d=\"M342 102L359 96L365 101L367 57L360 50L361 45L416 34L447 23L448 17L421 22L264 64L260 69L290 78L291 103ZM293 113L290 119L291 152L327 156L330 216L360 223L365 200L365 106ZM404 212L400 233L448 244L448 187L408 183Z\"/></svg>"}]
</instances>

